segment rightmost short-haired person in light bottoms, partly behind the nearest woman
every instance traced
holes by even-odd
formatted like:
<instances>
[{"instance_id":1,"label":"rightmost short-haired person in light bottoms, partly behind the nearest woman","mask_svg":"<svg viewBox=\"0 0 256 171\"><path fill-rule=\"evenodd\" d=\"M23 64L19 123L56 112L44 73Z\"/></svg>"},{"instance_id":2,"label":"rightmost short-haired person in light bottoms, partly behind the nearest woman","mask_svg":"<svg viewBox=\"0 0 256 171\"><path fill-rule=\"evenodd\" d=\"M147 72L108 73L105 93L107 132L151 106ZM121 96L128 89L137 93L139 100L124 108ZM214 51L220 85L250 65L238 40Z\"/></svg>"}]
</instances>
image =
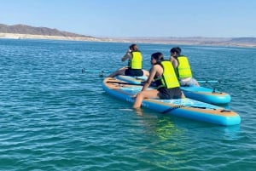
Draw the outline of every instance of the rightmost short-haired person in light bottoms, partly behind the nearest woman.
<instances>
[{"instance_id":1,"label":"rightmost short-haired person in light bottoms, partly behind the nearest woman","mask_svg":"<svg viewBox=\"0 0 256 171\"><path fill-rule=\"evenodd\" d=\"M181 54L181 48L174 47L170 50L170 61L176 69L177 77L181 86L200 86L192 77L192 71L189 66L189 60Z\"/></svg>"}]
</instances>

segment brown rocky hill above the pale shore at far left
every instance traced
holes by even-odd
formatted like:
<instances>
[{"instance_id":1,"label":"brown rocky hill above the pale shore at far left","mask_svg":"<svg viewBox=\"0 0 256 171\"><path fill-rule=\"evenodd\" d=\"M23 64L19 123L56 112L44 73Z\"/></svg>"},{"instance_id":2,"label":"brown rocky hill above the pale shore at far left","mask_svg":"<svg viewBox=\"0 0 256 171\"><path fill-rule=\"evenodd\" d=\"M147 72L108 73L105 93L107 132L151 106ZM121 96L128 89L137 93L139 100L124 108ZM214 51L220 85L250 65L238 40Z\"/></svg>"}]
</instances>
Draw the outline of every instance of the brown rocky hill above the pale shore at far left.
<instances>
[{"instance_id":1,"label":"brown rocky hill above the pale shore at far left","mask_svg":"<svg viewBox=\"0 0 256 171\"><path fill-rule=\"evenodd\" d=\"M67 31L59 31L47 27L35 27L26 25L7 26L0 24L0 33L13 33L13 34L30 34L42 36L58 36L58 37L90 37L84 36Z\"/></svg>"}]
</instances>

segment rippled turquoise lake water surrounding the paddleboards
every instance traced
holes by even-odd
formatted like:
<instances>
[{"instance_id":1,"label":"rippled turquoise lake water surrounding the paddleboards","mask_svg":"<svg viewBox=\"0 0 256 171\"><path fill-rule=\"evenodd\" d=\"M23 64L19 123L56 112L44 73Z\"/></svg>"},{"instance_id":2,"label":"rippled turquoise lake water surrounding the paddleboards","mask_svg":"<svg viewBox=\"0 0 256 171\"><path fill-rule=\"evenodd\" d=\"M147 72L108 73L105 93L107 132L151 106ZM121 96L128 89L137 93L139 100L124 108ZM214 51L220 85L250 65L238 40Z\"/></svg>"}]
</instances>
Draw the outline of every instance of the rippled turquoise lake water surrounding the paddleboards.
<instances>
[{"instance_id":1,"label":"rippled turquoise lake water surrounding the paddleboards","mask_svg":"<svg viewBox=\"0 0 256 171\"><path fill-rule=\"evenodd\" d=\"M254 170L256 48L181 46L204 86L232 97L222 127L113 99L96 72L124 66L128 43L0 39L1 170ZM174 45L140 44L169 55Z\"/></svg>"}]
</instances>

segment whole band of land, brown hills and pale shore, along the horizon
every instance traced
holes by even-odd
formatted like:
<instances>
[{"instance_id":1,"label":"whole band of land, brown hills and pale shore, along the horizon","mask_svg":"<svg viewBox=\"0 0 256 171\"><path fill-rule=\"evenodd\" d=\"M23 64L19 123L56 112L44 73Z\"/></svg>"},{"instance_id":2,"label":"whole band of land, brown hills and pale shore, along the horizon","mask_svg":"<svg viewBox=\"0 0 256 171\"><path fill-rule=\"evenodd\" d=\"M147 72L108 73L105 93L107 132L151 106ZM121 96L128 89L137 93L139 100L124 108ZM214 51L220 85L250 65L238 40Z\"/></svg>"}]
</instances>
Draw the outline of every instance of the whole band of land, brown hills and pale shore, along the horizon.
<instances>
[{"instance_id":1,"label":"whole band of land, brown hills and pale shore, along the horizon","mask_svg":"<svg viewBox=\"0 0 256 171\"><path fill-rule=\"evenodd\" d=\"M47 27L0 24L0 38L256 47L256 37L91 37Z\"/></svg>"}]
</instances>

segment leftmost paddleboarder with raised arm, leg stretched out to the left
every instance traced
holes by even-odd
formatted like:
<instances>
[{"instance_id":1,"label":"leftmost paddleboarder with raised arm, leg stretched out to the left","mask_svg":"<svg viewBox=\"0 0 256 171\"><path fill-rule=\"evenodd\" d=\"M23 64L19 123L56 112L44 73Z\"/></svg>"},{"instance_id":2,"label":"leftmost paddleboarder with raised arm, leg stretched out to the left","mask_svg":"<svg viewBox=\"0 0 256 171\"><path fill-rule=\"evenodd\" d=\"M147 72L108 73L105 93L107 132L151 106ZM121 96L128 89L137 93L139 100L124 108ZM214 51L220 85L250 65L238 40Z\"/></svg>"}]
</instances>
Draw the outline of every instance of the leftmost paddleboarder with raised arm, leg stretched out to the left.
<instances>
[{"instance_id":1,"label":"leftmost paddleboarder with raised arm, leg stretched out to the left","mask_svg":"<svg viewBox=\"0 0 256 171\"><path fill-rule=\"evenodd\" d=\"M118 75L142 77L148 76L149 72L143 70L143 55L137 48L137 44L131 44L126 54L121 59L122 61L128 60L128 67L114 71L108 77L115 77Z\"/></svg>"}]
</instances>

